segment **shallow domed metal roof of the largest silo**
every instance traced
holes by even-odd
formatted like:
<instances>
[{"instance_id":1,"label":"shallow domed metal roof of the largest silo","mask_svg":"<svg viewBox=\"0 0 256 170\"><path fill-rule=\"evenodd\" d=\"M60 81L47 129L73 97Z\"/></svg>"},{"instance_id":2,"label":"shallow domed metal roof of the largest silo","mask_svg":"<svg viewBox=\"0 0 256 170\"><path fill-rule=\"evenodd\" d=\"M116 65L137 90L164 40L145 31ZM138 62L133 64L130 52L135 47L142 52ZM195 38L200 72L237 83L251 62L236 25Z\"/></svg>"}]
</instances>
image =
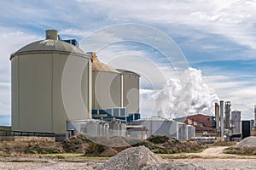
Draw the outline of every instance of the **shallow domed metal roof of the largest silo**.
<instances>
[{"instance_id":1,"label":"shallow domed metal roof of the largest silo","mask_svg":"<svg viewBox=\"0 0 256 170\"><path fill-rule=\"evenodd\" d=\"M24 46L23 48L20 48L18 51L15 52L15 54L11 54L10 59L15 57L15 55L18 54L31 54L31 53L65 53L65 54L79 54L84 57L89 56L84 53L84 51L80 48L77 48L76 46L73 46L71 43L58 41L58 40L52 40L52 39L46 39L41 40L37 42L32 42Z\"/></svg>"}]
</instances>

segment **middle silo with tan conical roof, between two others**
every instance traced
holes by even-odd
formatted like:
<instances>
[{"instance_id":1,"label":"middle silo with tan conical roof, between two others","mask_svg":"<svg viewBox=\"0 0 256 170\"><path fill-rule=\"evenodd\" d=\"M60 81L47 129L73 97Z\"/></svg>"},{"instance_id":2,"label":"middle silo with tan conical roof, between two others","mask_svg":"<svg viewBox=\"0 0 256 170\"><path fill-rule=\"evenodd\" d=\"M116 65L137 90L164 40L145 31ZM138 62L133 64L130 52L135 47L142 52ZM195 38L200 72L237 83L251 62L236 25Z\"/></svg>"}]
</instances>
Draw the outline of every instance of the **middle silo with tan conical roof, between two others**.
<instances>
[{"instance_id":1,"label":"middle silo with tan conical roof, between two others","mask_svg":"<svg viewBox=\"0 0 256 170\"><path fill-rule=\"evenodd\" d=\"M121 75L99 61L96 53L88 53L92 62L92 109L107 110L122 107L121 104Z\"/></svg>"}]
</instances>

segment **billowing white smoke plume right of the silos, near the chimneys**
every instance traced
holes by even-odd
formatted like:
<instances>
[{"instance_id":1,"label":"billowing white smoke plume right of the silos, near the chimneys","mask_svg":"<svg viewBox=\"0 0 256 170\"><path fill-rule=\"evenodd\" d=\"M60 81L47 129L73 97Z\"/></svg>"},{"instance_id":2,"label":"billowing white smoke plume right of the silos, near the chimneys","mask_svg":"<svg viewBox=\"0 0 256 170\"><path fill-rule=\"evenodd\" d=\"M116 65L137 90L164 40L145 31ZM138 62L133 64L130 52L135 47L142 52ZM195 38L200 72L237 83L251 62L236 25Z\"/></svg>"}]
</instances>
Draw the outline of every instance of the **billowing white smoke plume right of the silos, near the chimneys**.
<instances>
[{"instance_id":1,"label":"billowing white smoke plume right of the silos, near the chimneys","mask_svg":"<svg viewBox=\"0 0 256 170\"><path fill-rule=\"evenodd\" d=\"M218 95L202 80L200 70L181 71L179 78L171 78L166 88L150 93L155 106L151 116L176 118L193 114L212 115Z\"/></svg>"}]
</instances>

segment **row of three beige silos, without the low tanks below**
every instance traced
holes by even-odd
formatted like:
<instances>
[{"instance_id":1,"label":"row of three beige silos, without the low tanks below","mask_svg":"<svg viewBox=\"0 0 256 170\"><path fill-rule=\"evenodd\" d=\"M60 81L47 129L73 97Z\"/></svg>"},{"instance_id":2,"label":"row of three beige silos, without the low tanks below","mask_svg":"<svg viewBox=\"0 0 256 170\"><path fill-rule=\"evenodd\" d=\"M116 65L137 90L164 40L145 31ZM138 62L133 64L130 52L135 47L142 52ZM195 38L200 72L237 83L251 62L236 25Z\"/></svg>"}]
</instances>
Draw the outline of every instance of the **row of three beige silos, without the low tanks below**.
<instances>
[{"instance_id":1,"label":"row of three beige silos, without the low tanks below","mask_svg":"<svg viewBox=\"0 0 256 170\"><path fill-rule=\"evenodd\" d=\"M65 89L61 86L61 81L67 59L70 58L74 64L84 65L79 92L85 110L74 107L72 114L67 114L61 94L61 90ZM131 77L131 71L119 72L102 64L95 53L84 53L78 47L78 42L61 40L58 31L46 31L45 40L20 48L11 54L10 60L14 131L66 133L67 122L91 119L96 115L104 119L109 115L105 114L105 117L99 114L106 111L112 111L111 118L120 116L123 120L127 117L132 120L140 117L139 75L132 72ZM136 89L130 93L129 90L133 88ZM68 93L76 95L73 92ZM129 101L135 101L137 105L128 105ZM76 105L78 101L72 102ZM130 116L127 111L136 115Z\"/></svg>"}]
</instances>

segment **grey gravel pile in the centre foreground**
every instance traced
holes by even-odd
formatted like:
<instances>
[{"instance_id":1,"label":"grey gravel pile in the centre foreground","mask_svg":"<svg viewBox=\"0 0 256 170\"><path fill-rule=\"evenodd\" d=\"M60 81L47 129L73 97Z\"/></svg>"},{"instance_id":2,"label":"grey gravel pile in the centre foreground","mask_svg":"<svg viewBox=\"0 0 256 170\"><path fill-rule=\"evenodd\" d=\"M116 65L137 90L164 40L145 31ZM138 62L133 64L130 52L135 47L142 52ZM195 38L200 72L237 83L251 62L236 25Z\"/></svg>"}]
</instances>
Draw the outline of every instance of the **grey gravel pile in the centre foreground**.
<instances>
[{"instance_id":1,"label":"grey gravel pile in the centre foreground","mask_svg":"<svg viewBox=\"0 0 256 170\"><path fill-rule=\"evenodd\" d=\"M204 169L202 167L195 166L194 164L184 164L177 162L166 162L159 156L144 146L133 147L121 151L117 156L113 156L111 159L99 165L98 170L157 170L157 169Z\"/></svg>"}]
</instances>

